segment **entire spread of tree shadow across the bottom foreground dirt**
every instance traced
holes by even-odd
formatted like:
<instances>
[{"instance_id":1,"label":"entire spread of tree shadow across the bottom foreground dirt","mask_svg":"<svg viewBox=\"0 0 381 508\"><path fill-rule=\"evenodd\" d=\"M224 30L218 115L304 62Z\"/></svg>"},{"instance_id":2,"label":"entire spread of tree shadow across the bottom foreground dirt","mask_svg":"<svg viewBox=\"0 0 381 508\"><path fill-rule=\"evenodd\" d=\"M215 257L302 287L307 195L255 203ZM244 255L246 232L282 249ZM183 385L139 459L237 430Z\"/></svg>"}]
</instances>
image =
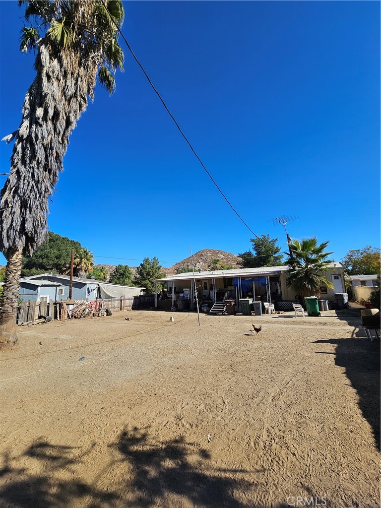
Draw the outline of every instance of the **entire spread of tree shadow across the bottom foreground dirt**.
<instances>
[{"instance_id":1,"label":"entire spread of tree shadow across the bottom foreground dirt","mask_svg":"<svg viewBox=\"0 0 381 508\"><path fill-rule=\"evenodd\" d=\"M215 469L210 465L209 452L201 449L191 453L192 446L182 437L154 442L147 429L126 428L110 445L116 453L107 472L113 477L118 468L119 474L115 474L111 486L103 489L98 486L100 479L86 483L75 473L74 466L93 446L82 453L80 448L36 441L13 461L4 455L0 478L6 481L0 487L0 497L13 508L150 508L176 503L197 508L264 508L264 503L252 501L258 496L253 492L264 486L243 479L263 470ZM27 461L24 468L14 466L26 458L33 462ZM88 459L91 461L91 457ZM126 470L124 464L130 471L128 478L120 477L120 472ZM68 471L70 479L63 480L62 473L67 478ZM288 506L285 501L271 503L272 508Z\"/></svg>"}]
</instances>

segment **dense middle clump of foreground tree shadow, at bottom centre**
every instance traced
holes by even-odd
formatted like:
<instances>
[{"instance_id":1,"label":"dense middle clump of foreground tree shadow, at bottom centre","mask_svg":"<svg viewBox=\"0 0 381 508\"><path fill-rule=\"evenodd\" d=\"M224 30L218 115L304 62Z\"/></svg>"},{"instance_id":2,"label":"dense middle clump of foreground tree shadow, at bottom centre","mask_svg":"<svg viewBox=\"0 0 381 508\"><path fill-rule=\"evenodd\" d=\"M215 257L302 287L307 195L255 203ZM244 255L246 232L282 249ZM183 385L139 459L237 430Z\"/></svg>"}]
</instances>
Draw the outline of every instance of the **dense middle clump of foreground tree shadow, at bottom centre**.
<instances>
[{"instance_id":1,"label":"dense middle clump of foreground tree shadow, at bottom centre","mask_svg":"<svg viewBox=\"0 0 381 508\"><path fill-rule=\"evenodd\" d=\"M213 469L209 452L201 449L198 457L193 454L191 458L190 446L183 437L154 443L146 430L124 429L116 447L134 471L130 485L133 498L126 506L156 506L171 493L203 508L253 506L235 496L235 492L249 493L258 487L242 479L242 473L248 471Z\"/></svg>"}]
</instances>

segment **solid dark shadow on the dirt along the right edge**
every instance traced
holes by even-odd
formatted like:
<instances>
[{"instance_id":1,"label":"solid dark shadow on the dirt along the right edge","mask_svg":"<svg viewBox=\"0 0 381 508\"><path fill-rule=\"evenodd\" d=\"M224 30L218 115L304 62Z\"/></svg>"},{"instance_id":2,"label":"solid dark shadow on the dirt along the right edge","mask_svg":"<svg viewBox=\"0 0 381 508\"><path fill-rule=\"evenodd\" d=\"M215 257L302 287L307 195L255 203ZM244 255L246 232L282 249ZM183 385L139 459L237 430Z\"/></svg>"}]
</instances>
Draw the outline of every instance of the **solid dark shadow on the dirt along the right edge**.
<instances>
[{"instance_id":1,"label":"solid dark shadow on the dirt along the right edge","mask_svg":"<svg viewBox=\"0 0 381 508\"><path fill-rule=\"evenodd\" d=\"M357 332L363 337L363 331ZM345 375L359 395L359 407L372 427L377 450L380 447L380 341L365 338L315 340L313 343L336 345L335 364L345 368ZM315 353L328 354L323 351Z\"/></svg>"}]
</instances>

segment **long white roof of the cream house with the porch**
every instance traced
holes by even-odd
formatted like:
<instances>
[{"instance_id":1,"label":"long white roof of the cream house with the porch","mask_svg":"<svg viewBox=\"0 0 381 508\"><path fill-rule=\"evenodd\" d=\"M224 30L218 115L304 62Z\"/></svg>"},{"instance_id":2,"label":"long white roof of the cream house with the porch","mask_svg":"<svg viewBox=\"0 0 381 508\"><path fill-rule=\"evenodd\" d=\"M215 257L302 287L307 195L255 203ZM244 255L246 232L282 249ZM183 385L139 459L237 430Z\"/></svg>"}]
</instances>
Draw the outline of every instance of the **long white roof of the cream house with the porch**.
<instances>
[{"instance_id":1,"label":"long white roof of the cream house with the porch","mask_svg":"<svg viewBox=\"0 0 381 508\"><path fill-rule=\"evenodd\" d=\"M342 268L341 263L330 263L329 268ZM279 275L290 269L288 265L283 266L262 266L260 268L234 268L233 270L210 270L205 272L184 272L176 275L167 275L162 279L156 279L155 282L169 282L172 280L193 280L195 277L200 279L224 278L224 277L264 277L266 275ZM195 274L195 275L194 275Z\"/></svg>"}]
</instances>

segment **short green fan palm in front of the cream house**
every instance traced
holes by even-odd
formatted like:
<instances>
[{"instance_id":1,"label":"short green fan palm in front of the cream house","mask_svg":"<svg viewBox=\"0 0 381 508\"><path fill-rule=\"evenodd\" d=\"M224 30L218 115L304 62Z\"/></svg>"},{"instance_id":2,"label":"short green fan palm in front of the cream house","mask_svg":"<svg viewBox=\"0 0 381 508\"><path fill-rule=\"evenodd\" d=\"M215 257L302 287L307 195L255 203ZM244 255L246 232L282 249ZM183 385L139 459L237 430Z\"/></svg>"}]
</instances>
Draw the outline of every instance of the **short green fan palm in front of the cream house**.
<instances>
[{"instance_id":1,"label":"short green fan palm in front of the cream house","mask_svg":"<svg viewBox=\"0 0 381 508\"><path fill-rule=\"evenodd\" d=\"M324 272L329 270L331 263L327 257L332 252L325 252L328 243L329 241L317 245L316 238L307 238L301 242L292 239L289 243L291 252L284 252L290 267L286 284L303 298L319 297L322 285L333 288L332 282L324 277Z\"/></svg>"}]
</instances>

